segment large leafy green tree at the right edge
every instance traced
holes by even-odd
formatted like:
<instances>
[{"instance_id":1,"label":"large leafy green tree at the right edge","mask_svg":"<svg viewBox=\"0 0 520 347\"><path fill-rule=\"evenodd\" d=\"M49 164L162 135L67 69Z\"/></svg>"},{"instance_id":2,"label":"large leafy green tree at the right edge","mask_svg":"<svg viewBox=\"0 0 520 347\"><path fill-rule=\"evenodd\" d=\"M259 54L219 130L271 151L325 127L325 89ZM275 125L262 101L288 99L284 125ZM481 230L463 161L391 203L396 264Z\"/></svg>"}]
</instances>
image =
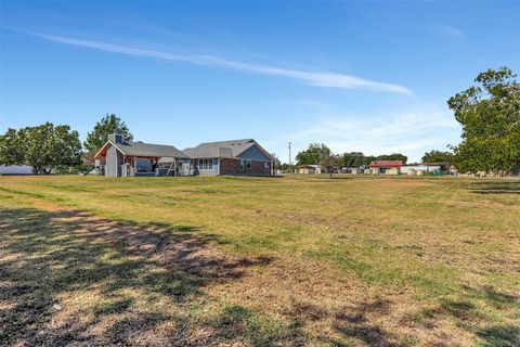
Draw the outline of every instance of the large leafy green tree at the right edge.
<instances>
[{"instance_id":1,"label":"large leafy green tree at the right edge","mask_svg":"<svg viewBox=\"0 0 520 347\"><path fill-rule=\"evenodd\" d=\"M463 172L510 172L520 169L520 85L511 69L489 69L477 86L450 98L463 126L463 142L453 146Z\"/></svg>"}]
</instances>

